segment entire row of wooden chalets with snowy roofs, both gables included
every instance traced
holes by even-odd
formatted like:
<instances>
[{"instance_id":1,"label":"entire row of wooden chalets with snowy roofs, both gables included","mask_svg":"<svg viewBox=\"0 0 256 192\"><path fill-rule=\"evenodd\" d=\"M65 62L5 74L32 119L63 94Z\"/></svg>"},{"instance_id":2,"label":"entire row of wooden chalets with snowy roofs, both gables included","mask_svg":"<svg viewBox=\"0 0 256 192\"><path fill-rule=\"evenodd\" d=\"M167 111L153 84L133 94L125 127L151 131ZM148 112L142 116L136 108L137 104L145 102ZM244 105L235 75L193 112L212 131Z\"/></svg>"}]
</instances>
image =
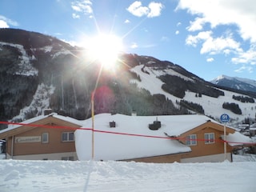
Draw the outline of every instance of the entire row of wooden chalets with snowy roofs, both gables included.
<instances>
[{"instance_id":1,"label":"entire row of wooden chalets with snowy roofs, both gables included","mask_svg":"<svg viewBox=\"0 0 256 192\"><path fill-rule=\"evenodd\" d=\"M223 125L198 114L98 114L94 131L91 126L91 118L51 113L10 124L0 139L6 140L6 158L135 162L232 162L232 151L251 143L226 127L224 147Z\"/></svg>"}]
</instances>

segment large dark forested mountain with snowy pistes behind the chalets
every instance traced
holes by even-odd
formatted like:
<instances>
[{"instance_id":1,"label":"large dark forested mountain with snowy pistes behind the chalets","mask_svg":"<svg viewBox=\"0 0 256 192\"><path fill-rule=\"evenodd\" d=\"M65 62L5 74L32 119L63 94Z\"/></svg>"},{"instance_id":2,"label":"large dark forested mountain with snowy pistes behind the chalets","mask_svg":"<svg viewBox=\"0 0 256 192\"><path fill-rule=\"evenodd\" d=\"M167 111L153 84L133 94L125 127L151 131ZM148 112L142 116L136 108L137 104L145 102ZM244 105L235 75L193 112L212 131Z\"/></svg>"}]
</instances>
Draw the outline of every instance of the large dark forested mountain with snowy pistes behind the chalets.
<instances>
[{"instance_id":1,"label":"large dark forested mountain with snowy pistes behind the chalets","mask_svg":"<svg viewBox=\"0 0 256 192\"><path fill-rule=\"evenodd\" d=\"M20 122L47 108L89 118L92 96L95 114L198 113L218 120L227 113L241 122L256 113L256 93L214 85L172 62L120 54L116 68L106 70L88 50L26 30L0 29L0 65L2 121Z\"/></svg>"}]
</instances>

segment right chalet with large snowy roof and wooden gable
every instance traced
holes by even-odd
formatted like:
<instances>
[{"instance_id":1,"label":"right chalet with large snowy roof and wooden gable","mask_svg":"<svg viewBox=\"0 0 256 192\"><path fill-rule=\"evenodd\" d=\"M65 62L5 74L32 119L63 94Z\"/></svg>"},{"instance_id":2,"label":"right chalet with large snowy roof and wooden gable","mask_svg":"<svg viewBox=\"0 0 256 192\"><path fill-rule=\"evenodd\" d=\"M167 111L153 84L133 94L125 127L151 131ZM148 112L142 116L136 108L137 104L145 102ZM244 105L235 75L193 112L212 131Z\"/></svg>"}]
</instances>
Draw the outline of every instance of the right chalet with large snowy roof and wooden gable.
<instances>
[{"instance_id":1,"label":"right chalet with large snowy roof and wooden gable","mask_svg":"<svg viewBox=\"0 0 256 192\"><path fill-rule=\"evenodd\" d=\"M87 119L84 126L90 125L91 119ZM223 125L198 114L98 114L94 116L94 138L88 130L76 130L75 138L80 160L94 154L95 160L135 162L232 162L232 150L251 142L226 127L224 147Z\"/></svg>"}]
</instances>

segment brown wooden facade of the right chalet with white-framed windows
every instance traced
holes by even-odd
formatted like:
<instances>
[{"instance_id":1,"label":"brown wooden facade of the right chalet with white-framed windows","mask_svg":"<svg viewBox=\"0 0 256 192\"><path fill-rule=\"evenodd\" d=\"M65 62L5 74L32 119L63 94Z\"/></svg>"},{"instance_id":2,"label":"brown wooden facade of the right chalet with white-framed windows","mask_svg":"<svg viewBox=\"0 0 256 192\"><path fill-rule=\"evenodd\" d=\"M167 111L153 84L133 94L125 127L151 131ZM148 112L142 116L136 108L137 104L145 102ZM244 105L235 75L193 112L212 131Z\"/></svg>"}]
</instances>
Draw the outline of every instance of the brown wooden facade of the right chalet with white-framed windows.
<instances>
[{"instance_id":1,"label":"brown wooden facade of the right chalet with white-framed windows","mask_svg":"<svg viewBox=\"0 0 256 192\"><path fill-rule=\"evenodd\" d=\"M213 134L214 140L207 141L205 134ZM178 138L179 142L186 144L186 138L190 135L196 135L195 143L190 146L191 152L182 154L166 154L156 157L148 158L133 158L129 161L134 162L223 162L228 160L232 162L232 150L233 147L226 145L226 155L224 153L224 142L222 136L224 129L222 125L214 122L206 122L200 126L194 127L193 129L183 133ZM234 129L226 127L226 134L234 134ZM194 141L194 140L191 140Z\"/></svg>"}]
</instances>

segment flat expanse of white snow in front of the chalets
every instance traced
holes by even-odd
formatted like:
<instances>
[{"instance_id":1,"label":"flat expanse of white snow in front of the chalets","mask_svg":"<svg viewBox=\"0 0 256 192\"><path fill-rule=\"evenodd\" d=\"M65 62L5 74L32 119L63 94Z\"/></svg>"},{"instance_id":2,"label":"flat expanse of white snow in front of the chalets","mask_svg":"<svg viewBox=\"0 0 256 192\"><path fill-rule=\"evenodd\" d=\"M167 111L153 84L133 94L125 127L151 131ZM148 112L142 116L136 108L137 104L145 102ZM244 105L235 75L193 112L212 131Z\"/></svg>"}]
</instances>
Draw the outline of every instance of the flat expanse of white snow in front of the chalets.
<instances>
[{"instance_id":1,"label":"flat expanse of white snow in front of the chalets","mask_svg":"<svg viewBox=\"0 0 256 192\"><path fill-rule=\"evenodd\" d=\"M0 160L0 173L2 192L256 191L256 162L154 164Z\"/></svg>"}]
</instances>

